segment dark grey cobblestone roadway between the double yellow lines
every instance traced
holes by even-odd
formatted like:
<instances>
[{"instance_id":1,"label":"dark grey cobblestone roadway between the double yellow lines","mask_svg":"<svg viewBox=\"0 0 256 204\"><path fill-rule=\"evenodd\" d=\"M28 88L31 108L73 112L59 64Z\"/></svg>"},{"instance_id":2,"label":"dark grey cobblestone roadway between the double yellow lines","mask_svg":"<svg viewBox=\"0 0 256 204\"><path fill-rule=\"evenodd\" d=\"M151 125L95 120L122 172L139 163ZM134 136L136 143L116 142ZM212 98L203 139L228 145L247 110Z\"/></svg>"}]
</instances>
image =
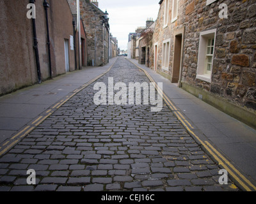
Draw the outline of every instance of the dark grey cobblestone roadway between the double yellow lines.
<instances>
[{"instance_id":1,"label":"dark grey cobblestone roadway between the double yellow lines","mask_svg":"<svg viewBox=\"0 0 256 204\"><path fill-rule=\"evenodd\" d=\"M96 82L109 77L150 83L124 57ZM96 82L0 157L1 191L238 191L229 179L219 184L219 166L168 106L95 105Z\"/></svg>"}]
</instances>

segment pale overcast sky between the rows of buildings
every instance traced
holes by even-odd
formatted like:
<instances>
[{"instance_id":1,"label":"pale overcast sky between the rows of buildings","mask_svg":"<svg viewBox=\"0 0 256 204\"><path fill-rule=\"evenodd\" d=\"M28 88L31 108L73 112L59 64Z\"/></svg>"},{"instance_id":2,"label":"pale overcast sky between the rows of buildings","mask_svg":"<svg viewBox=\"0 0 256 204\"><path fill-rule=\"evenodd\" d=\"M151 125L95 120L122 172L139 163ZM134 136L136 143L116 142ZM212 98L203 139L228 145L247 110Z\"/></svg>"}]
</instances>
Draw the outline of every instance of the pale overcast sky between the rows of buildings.
<instances>
[{"instance_id":1,"label":"pale overcast sky between the rows of buildings","mask_svg":"<svg viewBox=\"0 0 256 204\"><path fill-rule=\"evenodd\" d=\"M147 18L155 21L160 0L98 0L99 8L109 13L110 33L118 40L118 47L127 50L128 35L137 27L146 26Z\"/></svg>"}]
</instances>

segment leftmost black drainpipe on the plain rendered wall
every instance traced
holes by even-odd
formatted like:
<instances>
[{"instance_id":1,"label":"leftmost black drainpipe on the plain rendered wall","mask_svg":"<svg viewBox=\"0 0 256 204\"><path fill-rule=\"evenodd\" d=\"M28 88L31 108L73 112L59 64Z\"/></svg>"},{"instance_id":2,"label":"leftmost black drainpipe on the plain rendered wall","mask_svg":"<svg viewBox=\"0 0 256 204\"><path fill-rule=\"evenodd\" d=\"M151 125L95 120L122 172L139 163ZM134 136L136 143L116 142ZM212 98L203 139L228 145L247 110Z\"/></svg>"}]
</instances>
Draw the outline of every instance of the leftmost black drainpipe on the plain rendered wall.
<instances>
[{"instance_id":1,"label":"leftmost black drainpipe on the plain rendered wall","mask_svg":"<svg viewBox=\"0 0 256 204\"><path fill-rule=\"evenodd\" d=\"M35 0L29 0L29 3L35 4ZM36 22L35 18L32 19L33 24L33 40L34 40L34 50L35 50L35 57L36 57L36 71L37 71L37 77L38 77L38 83L42 83L42 77L41 77L41 70L40 70L40 61L39 61L39 53L38 53L38 41L36 38Z\"/></svg>"}]
</instances>

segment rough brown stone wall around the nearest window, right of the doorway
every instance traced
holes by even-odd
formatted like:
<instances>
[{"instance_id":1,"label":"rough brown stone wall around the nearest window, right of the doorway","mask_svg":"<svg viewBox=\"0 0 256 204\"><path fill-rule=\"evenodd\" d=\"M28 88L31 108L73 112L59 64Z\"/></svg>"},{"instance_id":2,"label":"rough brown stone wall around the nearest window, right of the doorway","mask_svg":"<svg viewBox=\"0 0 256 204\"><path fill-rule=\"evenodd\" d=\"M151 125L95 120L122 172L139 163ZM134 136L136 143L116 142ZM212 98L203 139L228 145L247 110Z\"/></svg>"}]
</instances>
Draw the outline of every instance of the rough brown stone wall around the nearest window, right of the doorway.
<instances>
[{"instance_id":1,"label":"rough brown stone wall around the nearest window, right of the doorway","mask_svg":"<svg viewBox=\"0 0 256 204\"><path fill-rule=\"evenodd\" d=\"M219 17L220 3L228 18ZM256 1L191 1L186 8L182 80L256 110ZM217 29L212 82L196 79L200 32Z\"/></svg>"}]
</instances>

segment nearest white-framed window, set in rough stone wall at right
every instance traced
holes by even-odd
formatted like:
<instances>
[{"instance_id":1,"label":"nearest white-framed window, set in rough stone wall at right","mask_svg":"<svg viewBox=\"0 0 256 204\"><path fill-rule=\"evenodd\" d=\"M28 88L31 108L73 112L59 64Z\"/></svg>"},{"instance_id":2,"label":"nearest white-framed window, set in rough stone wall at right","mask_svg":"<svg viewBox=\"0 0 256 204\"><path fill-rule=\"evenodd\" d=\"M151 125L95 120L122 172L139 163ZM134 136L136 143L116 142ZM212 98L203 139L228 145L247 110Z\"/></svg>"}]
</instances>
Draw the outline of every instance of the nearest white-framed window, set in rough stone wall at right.
<instances>
[{"instance_id":1,"label":"nearest white-framed window, set in rough stone wall at right","mask_svg":"<svg viewBox=\"0 0 256 204\"><path fill-rule=\"evenodd\" d=\"M211 82L216 29L200 33L196 78Z\"/></svg>"}]
</instances>

